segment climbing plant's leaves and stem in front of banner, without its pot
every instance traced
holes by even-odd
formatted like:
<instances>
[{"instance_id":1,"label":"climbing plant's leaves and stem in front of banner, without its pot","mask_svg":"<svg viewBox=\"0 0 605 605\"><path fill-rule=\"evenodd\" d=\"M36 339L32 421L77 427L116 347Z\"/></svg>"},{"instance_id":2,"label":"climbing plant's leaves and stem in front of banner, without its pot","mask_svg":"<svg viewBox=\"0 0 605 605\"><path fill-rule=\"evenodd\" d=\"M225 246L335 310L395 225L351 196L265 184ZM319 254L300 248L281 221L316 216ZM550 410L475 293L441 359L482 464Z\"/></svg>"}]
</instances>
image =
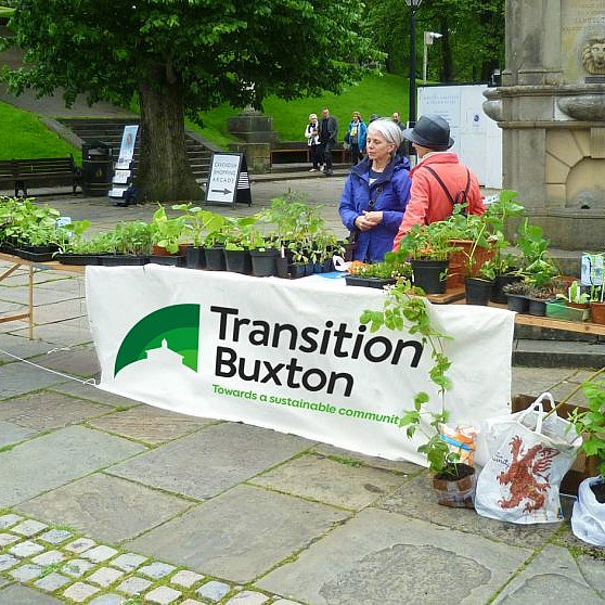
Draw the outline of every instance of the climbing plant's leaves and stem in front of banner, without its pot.
<instances>
[{"instance_id":1,"label":"climbing plant's leaves and stem in front of banner, without its pot","mask_svg":"<svg viewBox=\"0 0 605 605\"><path fill-rule=\"evenodd\" d=\"M361 314L360 322L370 324L371 332L376 332L383 325L388 330L408 330L412 335L420 335L423 345L428 345L433 361L428 376L437 387L440 409L428 410L426 406L430 397L427 392L420 391L414 396L412 409L403 412L399 425L406 427L406 435L409 438L412 438L416 430L424 434L426 442L422 443L417 451L426 456L432 473L455 476L455 463L459 456L450 451L440 436L440 427L449 419L446 391L452 386L447 375L451 361L443 352L443 342L450 336L433 326L427 311L427 301L415 295L412 284L406 279L388 289L383 311L366 309ZM424 419L428 419L430 430L426 429Z\"/></svg>"}]
</instances>

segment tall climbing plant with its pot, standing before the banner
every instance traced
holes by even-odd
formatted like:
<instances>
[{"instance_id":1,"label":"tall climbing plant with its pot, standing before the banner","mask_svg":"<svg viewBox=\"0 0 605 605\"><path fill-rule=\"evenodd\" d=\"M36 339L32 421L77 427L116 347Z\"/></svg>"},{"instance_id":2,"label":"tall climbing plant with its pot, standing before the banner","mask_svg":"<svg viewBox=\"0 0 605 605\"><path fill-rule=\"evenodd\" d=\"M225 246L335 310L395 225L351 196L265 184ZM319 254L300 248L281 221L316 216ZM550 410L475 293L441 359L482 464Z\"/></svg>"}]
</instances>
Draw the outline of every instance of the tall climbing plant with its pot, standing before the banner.
<instances>
[{"instance_id":1,"label":"tall climbing plant with its pot, standing before the banner","mask_svg":"<svg viewBox=\"0 0 605 605\"><path fill-rule=\"evenodd\" d=\"M388 288L383 310L364 310L360 322L370 324L371 332L376 332L382 326L396 331L408 330L410 334L420 335L423 345L428 346L433 361L428 376L436 387L439 406L428 409L429 395L425 391L417 392L412 408L403 411L400 426L406 428L408 438L412 438L416 433L422 433L425 437L417 451L426 456L437 501L448 506L472 507L476 484L475 469L460 463L460 456L442 439L442 426L450 416L446 406L446 392L452 386L448 376L451 361L445 353L443 343L450 336L432 324L426 299L417 296L414 286L407 279ZM443 485L447 486L445 491Z\"/></svg>"}]
</instances>

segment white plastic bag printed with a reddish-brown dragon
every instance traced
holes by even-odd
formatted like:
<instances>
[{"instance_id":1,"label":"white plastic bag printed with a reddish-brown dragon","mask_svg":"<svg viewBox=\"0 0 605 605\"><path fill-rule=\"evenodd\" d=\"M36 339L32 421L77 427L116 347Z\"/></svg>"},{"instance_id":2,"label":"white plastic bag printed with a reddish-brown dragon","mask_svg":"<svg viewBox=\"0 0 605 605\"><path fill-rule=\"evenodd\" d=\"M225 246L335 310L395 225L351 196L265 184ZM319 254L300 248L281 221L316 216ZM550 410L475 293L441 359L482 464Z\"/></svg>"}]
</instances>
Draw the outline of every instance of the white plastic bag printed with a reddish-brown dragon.
<instances>
[{"instance_id":1,"label":"white plastic bag printed with a reddish-brown dragon","mask_svg":"<svg viewBox=\"0 0 605 605\"><path fill-rule=\"evenodd\" d=\"M571 423L544 420L542 394L527 410L488 419L489 459L477 480L475 510L484 517L517 524L563 520L558 488L582 445Z\"/></svg>"}]
</instances>

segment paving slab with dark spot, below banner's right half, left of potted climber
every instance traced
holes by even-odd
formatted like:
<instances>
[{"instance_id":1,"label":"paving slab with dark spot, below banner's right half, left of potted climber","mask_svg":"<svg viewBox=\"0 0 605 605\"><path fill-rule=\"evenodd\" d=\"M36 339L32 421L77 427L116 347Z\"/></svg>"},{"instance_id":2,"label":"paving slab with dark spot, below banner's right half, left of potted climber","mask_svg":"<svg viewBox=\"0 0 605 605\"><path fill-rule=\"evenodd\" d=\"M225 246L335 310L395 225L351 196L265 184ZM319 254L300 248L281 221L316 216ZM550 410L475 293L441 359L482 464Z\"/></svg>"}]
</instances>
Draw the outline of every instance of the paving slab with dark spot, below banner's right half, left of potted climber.
<instances>
[{"instance_id":1,"label":"paving slab with dark spot, below banner's right half, left of potted climber","mask_svg":"<svg viewBox=\"0 0 605 605\"><path fill-rule=\"evenodd\" d=\"M403 481L406 476L389 471L351 466L316 455L296 458L249 480L254 485L351 511L365 509Z\"/></svg>"}]
</instances>

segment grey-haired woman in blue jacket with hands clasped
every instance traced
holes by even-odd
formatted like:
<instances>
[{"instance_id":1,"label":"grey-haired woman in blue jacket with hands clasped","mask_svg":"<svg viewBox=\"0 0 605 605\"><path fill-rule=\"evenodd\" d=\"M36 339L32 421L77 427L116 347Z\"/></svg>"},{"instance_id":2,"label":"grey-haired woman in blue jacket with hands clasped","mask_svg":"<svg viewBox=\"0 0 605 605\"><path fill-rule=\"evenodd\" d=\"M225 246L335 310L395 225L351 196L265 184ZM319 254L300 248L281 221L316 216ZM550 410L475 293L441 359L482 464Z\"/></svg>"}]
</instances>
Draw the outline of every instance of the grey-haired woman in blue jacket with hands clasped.
<instances>
[{"instance_id":1,"label":"grey-haired woman in blue jacket with hands clasped","mask_svg":"<svg viewBox=\"0 0 605 605\"><path fill-rule=\"evenodd\" d=\"M397 155L401 130L386 119L368 127L368 157L351 168L340 196L343 224L355 233L355 260L379 262L392 248L410 197L407 158Z\"/></svg>"}]
</instances>

